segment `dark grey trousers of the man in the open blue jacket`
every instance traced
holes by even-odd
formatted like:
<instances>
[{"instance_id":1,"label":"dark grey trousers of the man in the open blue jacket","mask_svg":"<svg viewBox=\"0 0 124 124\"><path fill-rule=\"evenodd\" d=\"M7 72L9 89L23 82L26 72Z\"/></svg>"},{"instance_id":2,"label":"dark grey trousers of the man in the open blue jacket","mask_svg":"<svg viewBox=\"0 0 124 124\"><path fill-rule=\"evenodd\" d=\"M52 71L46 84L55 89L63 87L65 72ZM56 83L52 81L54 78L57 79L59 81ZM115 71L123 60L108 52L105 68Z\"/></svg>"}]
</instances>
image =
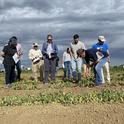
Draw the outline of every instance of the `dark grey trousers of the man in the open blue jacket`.
<instances>
[{"instance_id":1,"label":"dark grey trousers of the man in the open blue jacket","mask_svg":"<svg viewBox=\"0 0 124 124\"><path fill-rule=\"evenodd\" d=\"M49 74L51 80L55 80L56 59L44 59L44 83L48 83Z\"/></svg>"}]
</instances>

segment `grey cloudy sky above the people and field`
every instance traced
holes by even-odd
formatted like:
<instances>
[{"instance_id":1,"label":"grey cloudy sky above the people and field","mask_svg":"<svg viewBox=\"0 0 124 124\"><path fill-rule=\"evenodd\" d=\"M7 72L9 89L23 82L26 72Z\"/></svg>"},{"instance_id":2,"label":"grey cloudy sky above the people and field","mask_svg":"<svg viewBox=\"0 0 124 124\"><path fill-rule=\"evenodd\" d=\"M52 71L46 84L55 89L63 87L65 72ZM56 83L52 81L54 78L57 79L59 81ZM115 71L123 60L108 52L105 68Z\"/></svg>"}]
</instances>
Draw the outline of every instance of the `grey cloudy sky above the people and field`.
<instances>
[{"instance_id":1,"label":"grey cloudy sky above the people and field","mask_svg":"<svg viewBox=\"0 0 124 124\"><path fill-rule=\"evenodd\" d=\"M75 33L87 48L104 35L112 64L124 63L124 0L0 0L0 43L15 35L26 55L53 34L60 50Z\"/></svg>"}]
</instances>

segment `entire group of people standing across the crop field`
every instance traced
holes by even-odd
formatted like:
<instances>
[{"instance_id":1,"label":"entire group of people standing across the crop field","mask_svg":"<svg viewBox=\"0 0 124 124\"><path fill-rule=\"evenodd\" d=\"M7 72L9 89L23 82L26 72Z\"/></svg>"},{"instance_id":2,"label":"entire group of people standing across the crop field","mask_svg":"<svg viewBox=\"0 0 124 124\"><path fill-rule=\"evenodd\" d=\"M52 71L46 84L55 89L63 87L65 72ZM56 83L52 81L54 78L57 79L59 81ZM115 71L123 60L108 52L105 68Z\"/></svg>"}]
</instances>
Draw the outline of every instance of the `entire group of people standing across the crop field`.
<instances>
[{"instance_id":1,"label":"entire group of people standing across the crop field","mask_svg":"<svg viewBox=\"0 0 124 124\"><path fill-rule=\"evenodd\" d=\"M1 56L4 58L7 85L15 79L20 80L22 55L23 50L18 39L15 36L11 37L1 52ZM38 43L32 44L29 59L32 62L32 72L36 82L40 80L47 84L51 80L55 81L58 47L51 34L47 35L47 41L42 44L41 49ZM90 68L93 67L96 85L104 84L103 66L105 65L107 81L110 82L109 63L109 46L104 36L99 36L98 42L92 48L86 49L84 43L79 40L79 35L75 34L70 46L63 53L64 79L70 79L72 76L73 82L79 82L82 77L82 67L86 77L90 76ZM15 67L17 74L15 74Z\"/></svg>"}]
</instances>

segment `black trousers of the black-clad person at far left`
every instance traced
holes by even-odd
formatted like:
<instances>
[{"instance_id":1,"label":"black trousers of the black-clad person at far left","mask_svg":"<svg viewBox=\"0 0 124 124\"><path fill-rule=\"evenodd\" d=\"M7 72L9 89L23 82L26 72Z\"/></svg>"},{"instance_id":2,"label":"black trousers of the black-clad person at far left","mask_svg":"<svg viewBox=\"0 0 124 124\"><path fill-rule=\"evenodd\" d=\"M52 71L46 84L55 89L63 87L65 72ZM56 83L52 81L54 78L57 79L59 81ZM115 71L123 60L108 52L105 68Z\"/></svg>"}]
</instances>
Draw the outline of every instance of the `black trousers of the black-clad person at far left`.
<instances>
[{"instance_id":1,"label":"black trousers of the black-clad person at far left","mask_svg":"<svg viewBox=\"0 0 124 124\"><path fill-rule=\"evenodd\" d=\"M4 64L6 84L11 84L15 81L15 65Z\"/></svg>"}]
</instances>

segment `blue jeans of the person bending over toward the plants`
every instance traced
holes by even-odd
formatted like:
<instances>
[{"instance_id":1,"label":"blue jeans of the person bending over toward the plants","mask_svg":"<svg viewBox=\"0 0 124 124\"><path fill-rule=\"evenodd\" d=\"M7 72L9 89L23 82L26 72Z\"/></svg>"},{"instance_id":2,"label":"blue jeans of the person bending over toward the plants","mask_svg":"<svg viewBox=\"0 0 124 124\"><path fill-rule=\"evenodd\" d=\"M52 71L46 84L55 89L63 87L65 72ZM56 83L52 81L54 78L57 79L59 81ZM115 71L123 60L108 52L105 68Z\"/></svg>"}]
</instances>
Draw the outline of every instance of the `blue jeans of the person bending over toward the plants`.
<instances>
[{"instance_id":1,"label":"blue jeans of the person bending over toward the plants","mask_svg":"<svg viewBox=\"0 0 124 124\"><path fill-rule=\"evenodd\" d=\"M103 72L103 66L105 65L105 63L107 62L107 58L103 58L100 60L100 62L95 66L95 78L96 78L96 85L100 85L103 84L104 79L102 76L102 72Z\"/></svg>"}]
</instances>

